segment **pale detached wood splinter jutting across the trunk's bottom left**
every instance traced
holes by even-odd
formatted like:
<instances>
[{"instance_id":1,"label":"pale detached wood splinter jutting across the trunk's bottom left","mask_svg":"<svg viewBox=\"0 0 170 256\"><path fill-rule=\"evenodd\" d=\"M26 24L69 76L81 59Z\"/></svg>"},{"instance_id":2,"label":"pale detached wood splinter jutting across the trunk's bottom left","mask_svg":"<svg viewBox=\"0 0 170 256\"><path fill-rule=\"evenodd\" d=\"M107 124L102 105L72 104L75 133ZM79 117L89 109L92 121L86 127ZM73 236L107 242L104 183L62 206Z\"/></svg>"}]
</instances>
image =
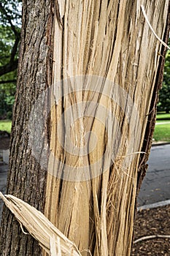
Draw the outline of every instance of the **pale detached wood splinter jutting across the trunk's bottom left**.
<instances>
[{"instance_id":1,"label":"pale detached wood splinter jutting across the trunk's bottom left","mask_svg":"<svg viewBox=\"0 0 170 256\"><path fill-rule=\"evenodd\" d=\"M28 205L23 200L13 195L3 195L0 197L7 208L12 211L20 225L26 227L39 245L51 256L62 255L81 255L77 246L69 241L40 211ZM22 229L23 230L23 229ZM25 233L25 232L24 232ZM26 234L26 233L25 233Z\"/></svg>"}]
</instances>

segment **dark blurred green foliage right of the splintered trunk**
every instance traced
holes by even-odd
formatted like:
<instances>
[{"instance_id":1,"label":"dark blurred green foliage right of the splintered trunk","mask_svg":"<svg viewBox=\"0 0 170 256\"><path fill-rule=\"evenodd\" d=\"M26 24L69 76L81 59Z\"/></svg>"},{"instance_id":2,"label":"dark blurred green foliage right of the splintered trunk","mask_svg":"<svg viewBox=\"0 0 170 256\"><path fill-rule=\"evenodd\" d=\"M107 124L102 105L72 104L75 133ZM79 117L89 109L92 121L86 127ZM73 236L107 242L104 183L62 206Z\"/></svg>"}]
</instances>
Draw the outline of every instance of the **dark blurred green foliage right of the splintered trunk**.
<instances>
[{"instance_id":1,"label":"dark blurred green foliage right of the splintered trunk","mask_svg":"<svg viewBox=\"0 0 170 256\"><path fill-rule=\"evenodd\" d=\"M163 86L159 94L158 111L166 111L166 113L170 111L170 50L166 53Z\"/></svg>"}]
</instances>

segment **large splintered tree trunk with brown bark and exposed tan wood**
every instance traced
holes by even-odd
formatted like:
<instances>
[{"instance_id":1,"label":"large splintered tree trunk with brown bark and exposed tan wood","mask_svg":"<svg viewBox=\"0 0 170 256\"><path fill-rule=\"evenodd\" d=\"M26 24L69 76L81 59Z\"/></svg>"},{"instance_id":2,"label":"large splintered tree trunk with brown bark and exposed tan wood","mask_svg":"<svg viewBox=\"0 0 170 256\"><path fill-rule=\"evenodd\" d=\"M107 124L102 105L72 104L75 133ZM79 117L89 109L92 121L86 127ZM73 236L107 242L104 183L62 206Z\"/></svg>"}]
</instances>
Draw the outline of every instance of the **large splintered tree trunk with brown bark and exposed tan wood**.
<instances>
[{"instance_id":1,"label":"large splintered tree trunk with brown bark and exposed tan wood","mask_svg":"<svg viewBox=\"0 0 170 256\"><path fill-rule=\"evenodd\" d=\"M85 255L130 255L169 1L23 1L7 193ZM1 255L40 255L4 208ZM46 255L45 252L42 252Z\"/></svg>"}]
</instances>

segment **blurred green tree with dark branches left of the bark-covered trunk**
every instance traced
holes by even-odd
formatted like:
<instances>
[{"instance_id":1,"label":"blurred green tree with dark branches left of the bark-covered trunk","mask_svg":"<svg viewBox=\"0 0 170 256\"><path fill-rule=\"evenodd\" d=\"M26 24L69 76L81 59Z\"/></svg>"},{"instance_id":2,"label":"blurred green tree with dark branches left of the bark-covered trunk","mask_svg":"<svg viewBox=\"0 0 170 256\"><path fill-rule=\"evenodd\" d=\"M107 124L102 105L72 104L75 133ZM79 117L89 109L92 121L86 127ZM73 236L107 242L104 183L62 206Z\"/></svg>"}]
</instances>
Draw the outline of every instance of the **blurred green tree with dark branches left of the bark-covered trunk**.
<instances>
[{"instance_id":1,"label":"blurred green tree with dark branches left of the bark-covered trunk","mask_svg":"<svg viewBox=\"0 0 170 256\"><path fill-rule=\"evenodd\" d=\"M0 2L0 119L12 118L20 42L21 2Z\"/></svg>"}]
</instances>

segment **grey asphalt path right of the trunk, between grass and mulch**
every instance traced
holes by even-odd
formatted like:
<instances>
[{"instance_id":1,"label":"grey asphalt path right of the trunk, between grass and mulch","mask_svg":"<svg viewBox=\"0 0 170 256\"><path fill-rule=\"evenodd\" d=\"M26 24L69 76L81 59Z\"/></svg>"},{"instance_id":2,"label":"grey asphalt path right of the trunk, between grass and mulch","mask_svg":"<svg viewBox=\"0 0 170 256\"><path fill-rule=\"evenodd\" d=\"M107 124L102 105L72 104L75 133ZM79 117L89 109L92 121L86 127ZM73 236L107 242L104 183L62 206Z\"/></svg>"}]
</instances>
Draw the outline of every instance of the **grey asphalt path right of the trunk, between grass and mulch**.
<instances>
[{"instance_id":1,"label":"grey asphalt path right of the trunk, between grass and mulch","mask_svg":"<svg viewBox=\"0 0 170 256\"><path fill-rule=\"evenodd\" d=\"M152 146L139 206L170 199L170 145Z\"/></svg>"}]
</instances>

